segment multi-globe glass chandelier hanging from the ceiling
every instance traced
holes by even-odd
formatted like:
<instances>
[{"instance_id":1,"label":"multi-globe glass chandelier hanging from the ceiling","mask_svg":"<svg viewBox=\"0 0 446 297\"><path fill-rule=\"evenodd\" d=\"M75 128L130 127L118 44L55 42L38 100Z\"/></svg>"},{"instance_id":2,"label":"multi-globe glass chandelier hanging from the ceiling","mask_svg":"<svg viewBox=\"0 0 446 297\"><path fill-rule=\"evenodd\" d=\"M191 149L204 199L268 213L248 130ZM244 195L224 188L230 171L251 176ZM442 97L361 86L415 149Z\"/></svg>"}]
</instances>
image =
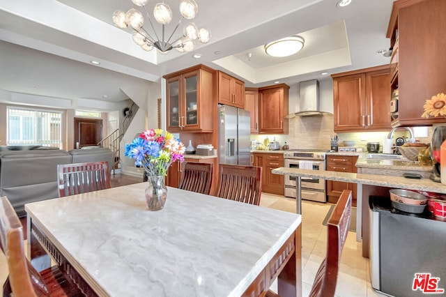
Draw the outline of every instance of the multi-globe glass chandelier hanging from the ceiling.
<instances>
[{"instance_id":1,"label":"multi-globe glass chandelier hanging from the ceiling","mask_svg":"<svg viewBox=\"0 0 446 297\"><path fill-rule=\"evenodd\" d=\"M178 21L178 24L176 24L174 31L172 31L167 39L164 32L164 26L171 22L172 10L166 3L164 3L164 0L162 3L157 3L155 8L153 8L153 18L148 15L148 11L146 9L148 0L132 0L132 2L135 5L144 8L147 15L147 20L151 25L150 33L143 28L144 17L142 13L134 8L128 10L127 13L124 13L121 10L116 10L113 14L113 22L115 26L121 29L131 26L134 30L132 33L133 41L137 43L137 45L141 46L143 50L150 52L153 50L153 48L156 48L160 52L164 53L175 48L178 50L178 52L192 52L192 50L195 48L195 40L199 40L201 43L209 42L210 31L205 28L198 29L194 22L190 22L184 26L183 36L177 40L171 41L172 36L174 36L176 29L178 29L178 26L180 26L183 19L192 20L197 16L198 5L194 0L180 0L180 13L182 17ZM155 31L153 19L162 25L160 36L158 36L158 33Z\"/></svg>"}]
</instances>

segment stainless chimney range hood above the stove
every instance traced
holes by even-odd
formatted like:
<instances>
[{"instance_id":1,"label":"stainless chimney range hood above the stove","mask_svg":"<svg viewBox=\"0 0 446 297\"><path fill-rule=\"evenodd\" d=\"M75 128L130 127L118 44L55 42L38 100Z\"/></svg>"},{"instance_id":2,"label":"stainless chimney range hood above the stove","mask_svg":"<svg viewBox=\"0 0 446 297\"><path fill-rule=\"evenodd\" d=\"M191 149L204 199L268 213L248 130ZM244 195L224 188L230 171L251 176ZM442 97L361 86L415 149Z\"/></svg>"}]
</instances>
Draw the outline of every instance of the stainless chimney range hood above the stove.
<instances>
[{"instance_id":1,"label":"stainless chimney range hood above the stove","mask_svg":"<svg viewBox=\"0 0 446 297\"><path fill-rule=\"evenodd\" d=\"M316 79L299 83L300 89L300 112L295 112L285 116L286 119L292 119L295 116L323 116L330 112L321 112L319 110L319 82Z\"/></svg>"}]
</instances>

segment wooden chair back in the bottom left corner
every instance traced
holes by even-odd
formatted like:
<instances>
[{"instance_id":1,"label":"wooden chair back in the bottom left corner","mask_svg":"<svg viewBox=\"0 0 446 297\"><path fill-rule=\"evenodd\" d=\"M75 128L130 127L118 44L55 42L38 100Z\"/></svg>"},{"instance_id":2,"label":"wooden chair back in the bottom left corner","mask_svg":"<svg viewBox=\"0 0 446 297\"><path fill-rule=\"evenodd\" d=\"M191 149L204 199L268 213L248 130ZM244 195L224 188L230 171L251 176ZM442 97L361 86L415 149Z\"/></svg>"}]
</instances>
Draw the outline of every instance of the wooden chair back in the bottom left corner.
<instances>
[{"instance_id":1,"label":"wooden chair back in the bottom left corner","mask_svg":"<svg viewBox=\"0 0 446 297\"><path fill-rule=\"evenodd\" d=\"M6 255L9 269L3 294L11 290L14 296L37 296L36 289L39 296L47 296L45 283L25 257L23 227L6 197L0 197L0 248Z\"/></svg>"}]
</instances>

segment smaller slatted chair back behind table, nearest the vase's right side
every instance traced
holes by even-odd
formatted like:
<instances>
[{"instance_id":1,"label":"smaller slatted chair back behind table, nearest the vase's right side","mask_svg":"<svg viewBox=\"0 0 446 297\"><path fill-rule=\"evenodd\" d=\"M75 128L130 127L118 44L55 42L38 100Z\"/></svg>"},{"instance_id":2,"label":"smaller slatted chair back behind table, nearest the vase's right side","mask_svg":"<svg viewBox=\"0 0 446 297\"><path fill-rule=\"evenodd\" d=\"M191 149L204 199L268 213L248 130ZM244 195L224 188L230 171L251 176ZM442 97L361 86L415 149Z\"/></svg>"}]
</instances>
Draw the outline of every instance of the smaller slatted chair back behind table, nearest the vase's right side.
<instances>
[{"instance_id":1,"label":"smaller slatted chair back behind table, nearest the vase's right side","mask_svg":"<svg viewBox=\"0 0 446 297\"><path fill-rule=\"evenodd\" d=\"M212 183L212 164L185 162L181 173L180 189L209 194Z\"/></svg>"}]
</instances>

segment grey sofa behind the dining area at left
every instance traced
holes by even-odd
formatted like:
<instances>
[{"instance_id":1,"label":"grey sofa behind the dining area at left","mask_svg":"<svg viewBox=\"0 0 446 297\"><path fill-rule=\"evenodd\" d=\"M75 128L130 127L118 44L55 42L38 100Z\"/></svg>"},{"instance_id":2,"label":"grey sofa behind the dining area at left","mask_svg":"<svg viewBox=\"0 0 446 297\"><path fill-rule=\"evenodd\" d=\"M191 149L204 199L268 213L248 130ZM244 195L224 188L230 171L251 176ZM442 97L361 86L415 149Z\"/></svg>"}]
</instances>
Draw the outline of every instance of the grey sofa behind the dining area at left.
<instances>
[{"instance_id":1,"label":"grey sofa behind the dining area at left","mask_svg":"<svg viewBox=\"0 0 446 297\"><path fill-rule=\"evenodd\" d=\"M102 147L71 151L0 147L0 196L8 197L17 215L23 217L24 204L59 197L57 165L107 161L111 173L114 157L114 151Z\"/></svg>"}]
</instances>

